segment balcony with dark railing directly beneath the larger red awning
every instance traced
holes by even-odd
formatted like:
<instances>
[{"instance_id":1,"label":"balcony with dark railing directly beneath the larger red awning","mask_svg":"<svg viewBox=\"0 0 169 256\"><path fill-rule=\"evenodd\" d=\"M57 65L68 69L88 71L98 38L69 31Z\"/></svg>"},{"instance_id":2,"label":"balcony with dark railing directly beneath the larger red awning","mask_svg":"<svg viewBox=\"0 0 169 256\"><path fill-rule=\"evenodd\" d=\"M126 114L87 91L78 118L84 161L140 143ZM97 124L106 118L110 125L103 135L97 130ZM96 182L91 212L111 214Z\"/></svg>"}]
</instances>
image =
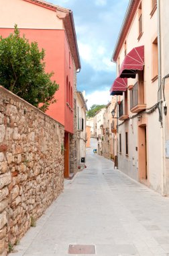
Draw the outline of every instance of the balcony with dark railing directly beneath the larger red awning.
<instances>
[{"instance_id":1,"label":"balcony with dark railing directly beneath the larger red awning","mask_svg":"<svg viewBox=\"0 0 169 256\"><path fill-rule=\"evenodd\" d=\"M131 113L139 113L146 108L144 104L144 82L137 82L130 90Z\"/></svg>"}]
</instances>

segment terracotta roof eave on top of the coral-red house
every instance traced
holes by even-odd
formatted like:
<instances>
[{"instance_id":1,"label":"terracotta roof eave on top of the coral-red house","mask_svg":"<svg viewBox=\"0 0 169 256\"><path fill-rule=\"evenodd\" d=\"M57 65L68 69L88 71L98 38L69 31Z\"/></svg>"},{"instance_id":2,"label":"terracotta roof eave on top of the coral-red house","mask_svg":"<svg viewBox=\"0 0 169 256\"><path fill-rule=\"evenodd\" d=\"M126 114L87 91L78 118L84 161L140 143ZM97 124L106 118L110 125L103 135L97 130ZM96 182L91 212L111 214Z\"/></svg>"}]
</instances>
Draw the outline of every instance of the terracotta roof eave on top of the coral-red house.
<instances>
[{"instance_id":1,"label":"terracotta roof eave on top of the coral-red house","mask_svg":"<svg viewBox=\"0 0 169 256\"><path fill-rule=\"evenodd\" d=\"M81 68L80 65L80 56L78 52L78 44L76 39L76 30L74 27L74 19L73 19L73 13L70 9L66 9L63 7L60 7L58 5L54 5L52 3L48 3L43 0L23 0L28 3L33 3L35 5L39 5L41 7L50 9L52 11L56 11L56 15L59 19L63 20L65 32L68 38L68 44L70 46L70 52L72 54L72 57L74 59L74 63L76 66L76 70Z\"/></svg>"}]
</instances>

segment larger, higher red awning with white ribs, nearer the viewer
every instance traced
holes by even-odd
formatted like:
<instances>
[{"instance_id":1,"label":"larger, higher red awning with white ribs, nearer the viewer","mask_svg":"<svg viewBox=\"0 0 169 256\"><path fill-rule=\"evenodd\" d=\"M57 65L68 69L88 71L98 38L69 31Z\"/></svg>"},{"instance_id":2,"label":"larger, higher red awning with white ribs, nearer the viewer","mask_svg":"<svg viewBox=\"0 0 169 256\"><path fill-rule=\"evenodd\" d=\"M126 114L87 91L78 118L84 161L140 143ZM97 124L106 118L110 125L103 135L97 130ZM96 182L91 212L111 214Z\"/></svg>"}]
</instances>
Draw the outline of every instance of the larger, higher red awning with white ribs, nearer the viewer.
<instances>
[{"instance_id":1,"label":"larger, higher red awning with white ribs, nearer the viewer","mask_svg":"<svg viewBox=\"0 0 169 256\"><path fill-rule=\"evenodd\" d=\"M133 48L123 60L119 77L135 78L138 70L144 69L144 46Z\"/></svg>"}]
</instances>

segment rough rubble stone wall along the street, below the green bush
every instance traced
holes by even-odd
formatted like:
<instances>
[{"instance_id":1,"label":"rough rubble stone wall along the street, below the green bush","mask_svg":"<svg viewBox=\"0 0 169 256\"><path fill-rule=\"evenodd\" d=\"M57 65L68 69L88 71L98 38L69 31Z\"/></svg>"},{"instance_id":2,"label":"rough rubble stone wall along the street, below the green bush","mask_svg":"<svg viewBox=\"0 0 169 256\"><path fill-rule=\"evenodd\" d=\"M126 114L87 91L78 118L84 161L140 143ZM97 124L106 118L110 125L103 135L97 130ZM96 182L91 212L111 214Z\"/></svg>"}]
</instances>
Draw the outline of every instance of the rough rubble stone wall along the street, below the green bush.
<instances>
[{"instance_id":1,"label":"rough rubble stone wall along the street, below the green bush","mask_svg":"<svg viewBox=\"0 0 169 256\"><path fill-rule=\"evenodd\" d=\"M64 127L0 86L0 255L63 189Z\"/></svg>"}]
</instances>

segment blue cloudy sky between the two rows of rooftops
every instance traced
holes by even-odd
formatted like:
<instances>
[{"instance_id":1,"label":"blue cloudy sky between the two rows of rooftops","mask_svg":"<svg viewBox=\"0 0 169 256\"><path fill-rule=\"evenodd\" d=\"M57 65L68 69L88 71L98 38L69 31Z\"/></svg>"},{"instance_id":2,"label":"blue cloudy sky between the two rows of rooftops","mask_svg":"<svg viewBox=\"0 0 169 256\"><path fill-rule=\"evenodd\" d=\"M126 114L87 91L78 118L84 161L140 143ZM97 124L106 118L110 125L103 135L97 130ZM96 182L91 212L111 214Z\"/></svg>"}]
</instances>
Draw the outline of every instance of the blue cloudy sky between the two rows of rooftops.
<instances>
[{"instance_id":1,"label":"blue cloudy sky between the two rows of rooftops","mask_svg":"<svg viewBox=\"0 0 169 256\"><path fill-rule=\"evenodd\" d=\"M82 65L78 90L85 90L88 108L107 104L116 69L111 55L129 0L48 1L73 11Z\"/></svg>"}]
</instances>

